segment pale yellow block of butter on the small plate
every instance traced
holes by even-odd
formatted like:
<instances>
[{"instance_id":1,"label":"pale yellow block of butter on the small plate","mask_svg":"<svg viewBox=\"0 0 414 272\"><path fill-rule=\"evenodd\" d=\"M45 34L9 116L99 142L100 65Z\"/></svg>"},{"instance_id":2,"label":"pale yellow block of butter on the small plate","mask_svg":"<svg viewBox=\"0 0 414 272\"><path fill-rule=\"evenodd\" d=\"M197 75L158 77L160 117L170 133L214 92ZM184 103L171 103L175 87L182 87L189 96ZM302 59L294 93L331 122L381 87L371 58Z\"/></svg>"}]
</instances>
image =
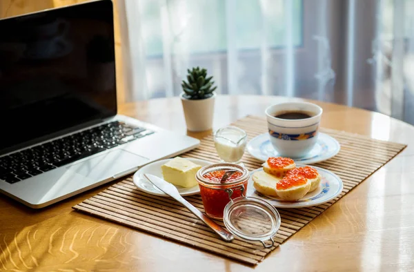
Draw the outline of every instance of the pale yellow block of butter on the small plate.
<instances>
[{"instance_id":1,"label":"pale yellow block of butter on the small plate","mask_svg":"<svg viewBox=\"0 0 414 272\"><path fill-rule=\"evenodd\" d=\"M193 187L197 185L195 174L199 171L198 164L190 162L182 157L175 157L161 166L164 179L174 185Z\"/></svg>"}]
</instances>

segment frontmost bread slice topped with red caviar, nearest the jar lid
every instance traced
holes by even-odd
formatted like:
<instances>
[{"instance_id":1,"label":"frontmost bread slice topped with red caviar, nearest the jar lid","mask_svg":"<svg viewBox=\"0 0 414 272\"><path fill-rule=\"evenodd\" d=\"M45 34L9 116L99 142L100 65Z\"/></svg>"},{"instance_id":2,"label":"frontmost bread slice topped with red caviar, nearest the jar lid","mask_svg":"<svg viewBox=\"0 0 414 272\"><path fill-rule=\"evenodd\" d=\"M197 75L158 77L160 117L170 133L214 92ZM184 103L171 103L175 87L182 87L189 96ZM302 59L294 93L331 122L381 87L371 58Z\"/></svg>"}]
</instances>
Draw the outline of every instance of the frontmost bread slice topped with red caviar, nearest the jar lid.
<instances>
[{"instance_id":1,"label":"frontmost bread slice topped with red caviar, nearest the jar lid","mask_svg":"<svg viewBox=\"0 0 414 272\"><path fill-rule=\"evenodd\" d=\"M291 180L295 181L304 181L304 184L295 185L290 184ZM279 188L282 187L282 185L285 185L287 187L285 188ZM302 197L304 197L309 189L311 188L311 181L307 179L306 177L302 177L300 175L287 175L284 177L280 182L276 184L276 193L277 196L282 198L282 200L286 201L296 201L300 200Z\"/></svg>"}]
</instances>

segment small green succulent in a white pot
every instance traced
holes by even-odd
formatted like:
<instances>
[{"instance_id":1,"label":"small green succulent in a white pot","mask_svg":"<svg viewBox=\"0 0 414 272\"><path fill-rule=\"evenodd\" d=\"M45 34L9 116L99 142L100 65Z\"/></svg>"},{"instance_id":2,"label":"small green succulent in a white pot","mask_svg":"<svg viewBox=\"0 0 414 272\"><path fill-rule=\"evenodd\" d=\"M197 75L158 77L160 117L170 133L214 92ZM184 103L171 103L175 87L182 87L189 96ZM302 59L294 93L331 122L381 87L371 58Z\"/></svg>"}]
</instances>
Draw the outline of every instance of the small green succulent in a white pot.
<instances>
[{"instance_id":1,"label":"small green succulent in a white pot","mask_svg":"<svg viewBox=\"0 0 414 272\"><path fill-rule=\"evenodd\" d=\"M213 112L215 92L213 76L207 77L207 70L199 67L187 70L187 80L181 86L181 103L187 129L190 131L204 131L213 127Z\"/></svg>"}]
</instances>

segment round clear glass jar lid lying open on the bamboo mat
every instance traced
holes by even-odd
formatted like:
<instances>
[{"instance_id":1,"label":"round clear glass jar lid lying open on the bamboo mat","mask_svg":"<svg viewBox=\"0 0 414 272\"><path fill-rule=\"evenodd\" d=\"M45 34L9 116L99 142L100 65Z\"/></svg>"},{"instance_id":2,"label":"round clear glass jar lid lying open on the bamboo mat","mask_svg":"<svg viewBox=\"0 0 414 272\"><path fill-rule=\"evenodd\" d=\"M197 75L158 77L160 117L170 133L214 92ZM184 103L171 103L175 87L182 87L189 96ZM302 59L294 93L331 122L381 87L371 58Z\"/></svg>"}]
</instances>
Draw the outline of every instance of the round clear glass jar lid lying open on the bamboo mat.
<instances>
[{"instance_id":1,"label":"round clear glass jar lid lying open on the bamboo mat","mask_svg":"<svg viewBox=\"0 0 414 272\"><path fill-rule=\"evenodd\" d=\"M223 222L230 233L245 240L260 241L269 248L275 243L273 236L281 220L276 208L268 202L255 197L237 197L224 208Z\"/></svg>"}]
</instances>

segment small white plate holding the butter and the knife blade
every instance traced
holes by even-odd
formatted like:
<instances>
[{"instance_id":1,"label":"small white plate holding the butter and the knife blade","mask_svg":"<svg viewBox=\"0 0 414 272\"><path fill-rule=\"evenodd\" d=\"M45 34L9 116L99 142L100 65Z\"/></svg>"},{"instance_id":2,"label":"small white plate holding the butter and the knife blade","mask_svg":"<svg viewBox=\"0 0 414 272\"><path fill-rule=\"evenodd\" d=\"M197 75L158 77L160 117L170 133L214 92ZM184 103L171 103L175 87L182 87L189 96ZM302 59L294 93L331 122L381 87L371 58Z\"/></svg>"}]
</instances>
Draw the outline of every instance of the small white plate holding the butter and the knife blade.
<instances>
[{"instance_id":1,"label":"small white plate holding the butter and the knife blade","mask_svg":"<svg viewBox=\"0 0 414 272\"><path fill-rule=\"evenodd\" d=\"M208 162L208 161L205 161L204 159L193 159L193 158L188 158L188 157L186 157L186 159L188 159L190 162L194 162L195 164L198 164L201 166L213 164L213 162ZM155 175L157 177L161 177L162 179L163 176L161 172L161 165L166 164L170 160L171 159L163 159L161 161L152 162L151 164L147 164L146 166L139 168L139 170L135 172L134 177L132 178L135 186L138 187L139 191L149 193L150 195L158 195L161 197L167 197L168 195L166 195L163 191L160 191L159 188L152 185L152 183L149 182L148 179L144 177L144 174ZM175 186L175 187L177 187L179 194L182 196L197 195L198 193L200 193L200 188L198 184L190 188L184 188L181 186Z\"/></svg>"}]
</instances>

